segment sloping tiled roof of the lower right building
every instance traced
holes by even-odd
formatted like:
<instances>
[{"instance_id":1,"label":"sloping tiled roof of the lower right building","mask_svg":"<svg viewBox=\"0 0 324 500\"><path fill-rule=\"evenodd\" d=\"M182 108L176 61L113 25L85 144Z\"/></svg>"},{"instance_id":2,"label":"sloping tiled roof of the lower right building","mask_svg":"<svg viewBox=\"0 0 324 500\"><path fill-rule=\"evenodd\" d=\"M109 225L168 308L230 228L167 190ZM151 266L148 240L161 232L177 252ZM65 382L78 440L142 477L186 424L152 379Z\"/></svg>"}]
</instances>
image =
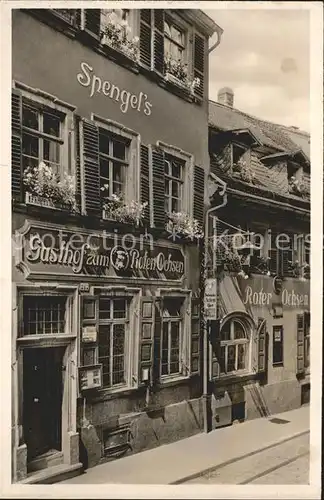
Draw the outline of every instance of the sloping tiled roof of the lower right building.
<instances>
[{"instance_id":1,"label":"sloping tiled roof of the lower right building","mask_svg":"<svg viewBox=\"0 0 324 500\"><path fill-rule=\"evenodd\" d=\"M211 100L209 101L209 125L226 131L249 129L261 144L277 151L293 153L301 148L304 151L304 147L306 148L305 137L301 139L299 134L298 139L296 139L295 130L261 120L236 108ZM301 146L300 142L303 143L304 147Z\"/></svg>"}]
</instances>

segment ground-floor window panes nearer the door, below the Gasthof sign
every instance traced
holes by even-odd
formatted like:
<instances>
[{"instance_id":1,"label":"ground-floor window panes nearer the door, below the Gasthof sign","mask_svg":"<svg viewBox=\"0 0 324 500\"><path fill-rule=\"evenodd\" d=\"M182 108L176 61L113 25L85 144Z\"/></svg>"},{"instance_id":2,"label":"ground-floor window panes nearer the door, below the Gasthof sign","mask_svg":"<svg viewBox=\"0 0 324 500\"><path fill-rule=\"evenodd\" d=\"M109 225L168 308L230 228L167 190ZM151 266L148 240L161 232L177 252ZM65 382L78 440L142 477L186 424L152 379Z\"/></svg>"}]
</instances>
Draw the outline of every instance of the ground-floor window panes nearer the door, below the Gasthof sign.
<instances>
[{"instance_id":1,"label":"ground-floor window panes nearer the door, below the Gasthof sign","mask_svg":"<svg viewBox=\"0 0 324 500\"><path fill-rule=\"evenodd\" d=\"M125 298L99 300L99 363L103 387L126 384L129 303Z\"/></svg>"}]
</instances>

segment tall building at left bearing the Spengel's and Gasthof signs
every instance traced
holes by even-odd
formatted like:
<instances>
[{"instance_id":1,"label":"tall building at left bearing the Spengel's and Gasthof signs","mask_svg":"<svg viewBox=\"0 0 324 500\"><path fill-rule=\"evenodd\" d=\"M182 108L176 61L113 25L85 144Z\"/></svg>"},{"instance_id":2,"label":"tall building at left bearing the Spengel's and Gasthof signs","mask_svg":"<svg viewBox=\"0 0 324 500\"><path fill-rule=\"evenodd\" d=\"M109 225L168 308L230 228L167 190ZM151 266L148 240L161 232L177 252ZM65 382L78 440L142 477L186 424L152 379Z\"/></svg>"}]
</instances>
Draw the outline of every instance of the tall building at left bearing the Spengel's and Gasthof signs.
<instances>
[{"instance_id":1,"label":"tall building at left bearing the Spengel's and Gasthof signs","mask_svg":"<svg viewBox=\"0 0 324 500\"><path fill-rule=\"evenodd\" d=\"M13 10L14 481L202 428L200 246L167 214L203 224L215 32L199 10Z\"/></svg>"}]
</instances>

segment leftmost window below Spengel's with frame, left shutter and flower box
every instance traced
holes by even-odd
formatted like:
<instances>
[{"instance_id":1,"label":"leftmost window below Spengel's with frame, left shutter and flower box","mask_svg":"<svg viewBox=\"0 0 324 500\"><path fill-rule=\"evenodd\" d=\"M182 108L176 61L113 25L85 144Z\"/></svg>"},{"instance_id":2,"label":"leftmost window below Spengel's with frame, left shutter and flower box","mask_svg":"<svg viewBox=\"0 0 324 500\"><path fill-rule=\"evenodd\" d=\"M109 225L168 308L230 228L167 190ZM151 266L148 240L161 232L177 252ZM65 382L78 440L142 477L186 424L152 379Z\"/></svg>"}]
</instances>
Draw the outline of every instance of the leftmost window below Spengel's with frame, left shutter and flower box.
<instances>
[{"instance_id":1,"label":"leftmost window below Spengel's with frame, left shutter and flower box","mask_svg":"<svg viewBox=\"0 0 324 500\"><path fill-rule=\"evenodd\" d=\"M12 94L12 191L29 204L75 208L74 107L55 96L39 96L32 87L15 82ZM21 90L20 90L21 89ZM39 168L40 167L40 168ZM49 182L64 180L61 199L51 195ZM28 195L28 196L27 196Z\"/></svg>"}]
</instances>

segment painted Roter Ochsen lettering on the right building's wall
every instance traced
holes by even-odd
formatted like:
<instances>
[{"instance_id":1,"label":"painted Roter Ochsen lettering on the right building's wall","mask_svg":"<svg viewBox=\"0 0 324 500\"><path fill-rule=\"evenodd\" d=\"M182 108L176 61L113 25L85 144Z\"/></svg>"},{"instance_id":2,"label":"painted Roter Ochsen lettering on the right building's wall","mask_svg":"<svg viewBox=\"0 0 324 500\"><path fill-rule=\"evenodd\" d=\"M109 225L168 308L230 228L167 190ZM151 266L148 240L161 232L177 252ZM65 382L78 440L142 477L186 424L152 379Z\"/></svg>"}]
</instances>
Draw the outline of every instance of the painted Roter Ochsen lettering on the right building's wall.
<instances>
[{"instance_id":1,"label":"painted Roter Ochsen lettering on the right building's wall","mask_svg":"<svg viewBox=\"0 0 324 500\"><path fill-rule=\"evenodd\" d=\"M308 281L288 278L281 282L281 289L273 279L254 277L248 280L238 279L243 304L246 306L268 307L281 305L283 308L309 309L310 289Z\"/></svg>"}]
</instances>

